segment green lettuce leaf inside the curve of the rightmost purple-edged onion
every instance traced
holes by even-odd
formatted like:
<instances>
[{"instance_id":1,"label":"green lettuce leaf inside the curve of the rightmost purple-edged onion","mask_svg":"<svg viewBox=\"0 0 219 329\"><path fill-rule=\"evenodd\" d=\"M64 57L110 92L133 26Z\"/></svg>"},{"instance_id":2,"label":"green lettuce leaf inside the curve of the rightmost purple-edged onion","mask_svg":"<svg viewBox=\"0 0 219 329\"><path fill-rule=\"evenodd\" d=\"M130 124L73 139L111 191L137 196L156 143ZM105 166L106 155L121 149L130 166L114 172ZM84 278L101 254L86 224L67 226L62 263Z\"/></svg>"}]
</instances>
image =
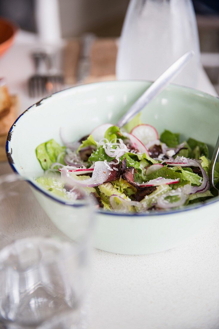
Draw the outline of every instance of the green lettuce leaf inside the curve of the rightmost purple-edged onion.
<instances>
[{"instance_id":1,"label":"green lettuce leaf inside the curve of the rightmost purple-edged onion","mask_svg":"<svg viewBox=\"0 0 219 329\"><path fill-rule=\"evenodd\" d=\"M186 168L188 169L188 168ZM174 184L174 188L179 187L179 185L183 184L183 181L189 182L193 185L201 185L202 184L202 178L191 171L184 170L182 167L173 167L169 168L167 166L164 166L157 171L153 172L152 174L147 176L147 180L155 179L158 177L164 177L164 178L170 178L170 179L176 179L180 178L180 182L177 184Z\"/></svg>"}]
</instances>

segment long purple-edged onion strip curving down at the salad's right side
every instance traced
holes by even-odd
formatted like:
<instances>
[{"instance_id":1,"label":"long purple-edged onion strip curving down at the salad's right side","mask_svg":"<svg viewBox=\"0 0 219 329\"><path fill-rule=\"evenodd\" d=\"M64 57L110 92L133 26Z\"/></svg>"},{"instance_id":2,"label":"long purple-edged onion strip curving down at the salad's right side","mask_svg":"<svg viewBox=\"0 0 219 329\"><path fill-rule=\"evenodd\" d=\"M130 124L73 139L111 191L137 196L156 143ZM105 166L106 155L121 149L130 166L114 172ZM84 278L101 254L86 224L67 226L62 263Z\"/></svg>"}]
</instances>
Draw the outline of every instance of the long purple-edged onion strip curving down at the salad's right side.
<instances>
[{"instance_id":1,"label":"long purple-edged onion strip curving down at the salad's right side","mask_svg":"<svg viewBox=\"0 0 219 329\"><path fill-rule=\"evenodd\" d=\"M181 167L199 167L201 172L202 172L202 176L203 176L203 182L201 185L199 186L191 186L191 185L185 185L184 189L186 190L187 194L193 194L193 193L197 193L197 192L206 192L209 187L210 187L210 183L209 183L209 179L206 175L205 170L202 168L201 164L194 160L194 159L187 159L184 157L176 157L176 159L174 160L174 162L165 161L166 164L170 165L170 166L181 166Z\"/></svg>"}]
</instances>

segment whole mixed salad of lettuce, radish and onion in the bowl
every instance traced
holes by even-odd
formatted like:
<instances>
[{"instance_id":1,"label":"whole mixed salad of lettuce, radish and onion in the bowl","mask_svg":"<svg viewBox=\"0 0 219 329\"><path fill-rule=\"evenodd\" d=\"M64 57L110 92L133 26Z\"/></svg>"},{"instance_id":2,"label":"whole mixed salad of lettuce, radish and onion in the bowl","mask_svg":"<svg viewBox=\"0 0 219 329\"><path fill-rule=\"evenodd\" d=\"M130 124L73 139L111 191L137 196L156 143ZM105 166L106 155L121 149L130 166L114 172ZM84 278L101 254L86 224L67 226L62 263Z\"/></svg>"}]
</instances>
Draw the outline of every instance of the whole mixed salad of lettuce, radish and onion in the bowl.
<instances>
[{"instance_id":1,"label":"whole mixed salad of lettuce, radish and onion in the bowl","mask_svg":"<svg viewBox=\"0 0 219 329\"><path fill-rule=\"evenodd\" d=\"M139 114L140 115L140 114ZM137 115L121 130L112 124L96 127L77 142L59 145L54 139L37 146L46 190L67 200L80 198L80 186L104 210L146 212L203 202L210 191L207 145L143 124ZM219 182L219 165L214 173Z\"/></svg>"}]
</instances>

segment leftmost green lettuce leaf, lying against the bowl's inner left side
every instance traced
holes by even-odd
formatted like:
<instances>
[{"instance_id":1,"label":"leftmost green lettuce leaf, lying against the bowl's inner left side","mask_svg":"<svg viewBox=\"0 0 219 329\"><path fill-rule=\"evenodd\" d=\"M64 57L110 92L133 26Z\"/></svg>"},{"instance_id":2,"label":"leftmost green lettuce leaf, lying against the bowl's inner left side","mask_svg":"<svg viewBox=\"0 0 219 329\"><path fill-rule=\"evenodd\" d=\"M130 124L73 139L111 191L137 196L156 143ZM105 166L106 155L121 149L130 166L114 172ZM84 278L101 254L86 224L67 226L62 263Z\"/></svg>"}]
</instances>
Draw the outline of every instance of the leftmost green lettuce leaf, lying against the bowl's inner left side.
<instances>
[{"instance_id":1,"label":"leftmost green lettuce leaf, lying against the bowl's inner left side","mask_svg":"<svg viewBox=\"0 0 219 329\"><path fill-rule=\"evenodd\" d=\"M36 156L43 170L49 169L52 163L57 162L57 159L61 164L65 164L64 155L65 147L59 145L54 139L50 139L36 148Z\"/></svg>"}]
</instances>

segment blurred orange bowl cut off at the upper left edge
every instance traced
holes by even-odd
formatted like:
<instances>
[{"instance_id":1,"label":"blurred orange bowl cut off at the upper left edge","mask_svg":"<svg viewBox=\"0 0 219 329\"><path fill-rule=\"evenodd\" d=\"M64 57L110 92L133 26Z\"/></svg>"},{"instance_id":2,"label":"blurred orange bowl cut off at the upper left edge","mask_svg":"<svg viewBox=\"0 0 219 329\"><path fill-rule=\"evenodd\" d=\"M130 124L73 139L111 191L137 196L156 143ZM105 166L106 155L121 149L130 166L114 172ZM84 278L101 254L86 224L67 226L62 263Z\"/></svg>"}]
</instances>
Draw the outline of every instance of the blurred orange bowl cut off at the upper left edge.
<instances>
[{"instance_id":1,"label":"blurred orange bowl cut off at the upper left edge","mask_svg":"<svg viewBox=\"0 0 219 329\"><path fill-rule=\"evenodd\" d=\"M0 56L13 44L17 28L4 18L0 18Z\"/></svg>"}]
</instances>

